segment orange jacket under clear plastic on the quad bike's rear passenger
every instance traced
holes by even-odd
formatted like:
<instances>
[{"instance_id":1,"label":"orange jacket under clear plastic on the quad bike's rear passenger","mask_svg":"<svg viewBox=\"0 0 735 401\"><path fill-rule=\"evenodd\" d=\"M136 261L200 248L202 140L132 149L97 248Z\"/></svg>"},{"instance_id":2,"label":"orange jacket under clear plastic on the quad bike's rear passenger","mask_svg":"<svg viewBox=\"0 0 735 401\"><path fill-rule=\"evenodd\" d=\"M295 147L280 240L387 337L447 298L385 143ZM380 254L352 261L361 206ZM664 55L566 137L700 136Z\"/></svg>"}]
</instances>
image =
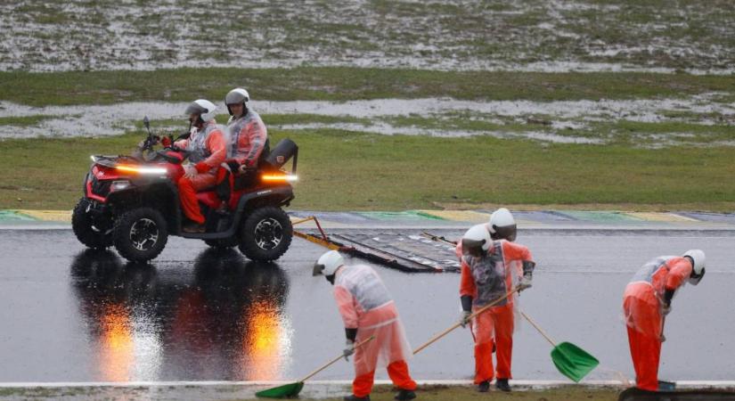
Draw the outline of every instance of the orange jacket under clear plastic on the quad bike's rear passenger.
<instances>
[{"instance_id":1,"label":"orange jacket under clear plastic on the quad bike's rear passenger","mask_svg":"<svg viewBox=\"0 0 735 401\"><path fill-rule=\"evenodd\" d=\"M257 112L248 109L241 118L230 119L227 130L231 143L228 157L237 160L241 165L257 166L257 160L268 139L268 130Z\"/></svg>"}]
</instances>

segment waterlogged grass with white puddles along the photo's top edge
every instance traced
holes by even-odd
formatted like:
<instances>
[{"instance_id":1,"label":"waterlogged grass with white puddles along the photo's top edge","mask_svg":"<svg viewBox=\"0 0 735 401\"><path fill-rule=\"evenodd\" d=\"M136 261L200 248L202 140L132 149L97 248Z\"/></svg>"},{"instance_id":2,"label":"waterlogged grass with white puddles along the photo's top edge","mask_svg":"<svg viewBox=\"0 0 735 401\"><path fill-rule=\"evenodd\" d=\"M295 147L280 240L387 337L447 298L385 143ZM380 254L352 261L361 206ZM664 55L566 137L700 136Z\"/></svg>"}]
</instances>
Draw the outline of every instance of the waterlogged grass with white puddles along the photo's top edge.
<instances>
[{"instance_id":1,"label":"waterlogged grass with white puddles along the photo's top edge","mask_svg":"<svg viewBox=\"0 0 735 401\"><path fill-rule=\"evenodd\" d=\"M730 73L735 64L728 0L28 3L0 4L8 32L0 70L306 64Z\"/></svg>"}]
</instances>

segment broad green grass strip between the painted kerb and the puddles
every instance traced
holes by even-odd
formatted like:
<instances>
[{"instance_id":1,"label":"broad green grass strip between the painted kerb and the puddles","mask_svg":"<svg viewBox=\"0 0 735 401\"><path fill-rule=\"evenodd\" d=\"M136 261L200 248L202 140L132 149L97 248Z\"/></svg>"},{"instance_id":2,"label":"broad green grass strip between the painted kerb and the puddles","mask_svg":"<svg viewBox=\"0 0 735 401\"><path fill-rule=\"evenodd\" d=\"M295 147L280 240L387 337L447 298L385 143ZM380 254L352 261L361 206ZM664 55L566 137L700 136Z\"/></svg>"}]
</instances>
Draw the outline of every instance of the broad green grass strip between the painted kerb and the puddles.
<instances>
[{"instance_id":1,"label":"broad green grass strip between the painted kerb and the puddles","mask_svg":"<svg viewBox=\"0 0 735 401\"><path fill-rule=\"evenodd\" d=\"M441 204L698 204L735 199L731 148L541 143L271 129L299 145L295 209L434 209ZM90 154L132 151L141 135L5 140L0 209L71 209ZM410 184L409 184L410 183ZM335 188L339 190L335 190ZM48 193L53 192L53 197Z\"/></svg>"}]
</instances>

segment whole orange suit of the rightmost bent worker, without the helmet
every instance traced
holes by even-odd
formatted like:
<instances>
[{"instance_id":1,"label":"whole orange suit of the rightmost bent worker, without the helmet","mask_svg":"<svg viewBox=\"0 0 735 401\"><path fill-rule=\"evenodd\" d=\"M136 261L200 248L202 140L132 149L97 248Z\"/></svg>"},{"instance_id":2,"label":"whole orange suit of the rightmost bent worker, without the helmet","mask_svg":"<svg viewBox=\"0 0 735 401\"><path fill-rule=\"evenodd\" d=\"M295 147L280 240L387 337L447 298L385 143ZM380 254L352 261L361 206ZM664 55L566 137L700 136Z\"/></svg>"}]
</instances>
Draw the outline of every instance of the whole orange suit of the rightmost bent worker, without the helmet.
<instances>
[{"instance_id":1,"label":"whole orange suit of the rightmost bent worker, without the helmet","mask_svg":"<svg viewBox=\"0 0 735 401\"><path fill-rule=\"evenodd\" d=\"M658 389L664 293L681 287L690 274L689 259L659 257L643 265L625 287L623 310L639 389Z\"/></svg>"}]
</instances>

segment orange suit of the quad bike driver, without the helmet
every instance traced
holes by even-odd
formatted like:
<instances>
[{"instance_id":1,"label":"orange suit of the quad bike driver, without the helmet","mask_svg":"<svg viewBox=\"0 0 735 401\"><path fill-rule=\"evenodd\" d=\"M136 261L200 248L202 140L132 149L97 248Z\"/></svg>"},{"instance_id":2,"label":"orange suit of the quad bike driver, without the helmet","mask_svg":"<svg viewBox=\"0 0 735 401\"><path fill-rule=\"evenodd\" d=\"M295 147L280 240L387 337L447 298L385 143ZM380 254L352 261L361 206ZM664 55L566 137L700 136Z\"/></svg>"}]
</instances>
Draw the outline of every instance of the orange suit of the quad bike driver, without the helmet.
<instances>
[{"instance_id":1,"label":"orange suit of the quad bike driver, without the helmet","mask_svg":"<svg viewBox=\"0 0 735 401\"><path fill-rule=\"evenodd\" d=\"M177 186L181 209L184 216L197 224L204 224L201 215L197 191L216 184L216 171L227 157L227 142L225 135L217 127L216 121L210 120L200 131L195 132L189 139L177 141L176 146L190 151L189 161L197 169L196 176L179 178Z\"/></svg>"}]
</instances>

